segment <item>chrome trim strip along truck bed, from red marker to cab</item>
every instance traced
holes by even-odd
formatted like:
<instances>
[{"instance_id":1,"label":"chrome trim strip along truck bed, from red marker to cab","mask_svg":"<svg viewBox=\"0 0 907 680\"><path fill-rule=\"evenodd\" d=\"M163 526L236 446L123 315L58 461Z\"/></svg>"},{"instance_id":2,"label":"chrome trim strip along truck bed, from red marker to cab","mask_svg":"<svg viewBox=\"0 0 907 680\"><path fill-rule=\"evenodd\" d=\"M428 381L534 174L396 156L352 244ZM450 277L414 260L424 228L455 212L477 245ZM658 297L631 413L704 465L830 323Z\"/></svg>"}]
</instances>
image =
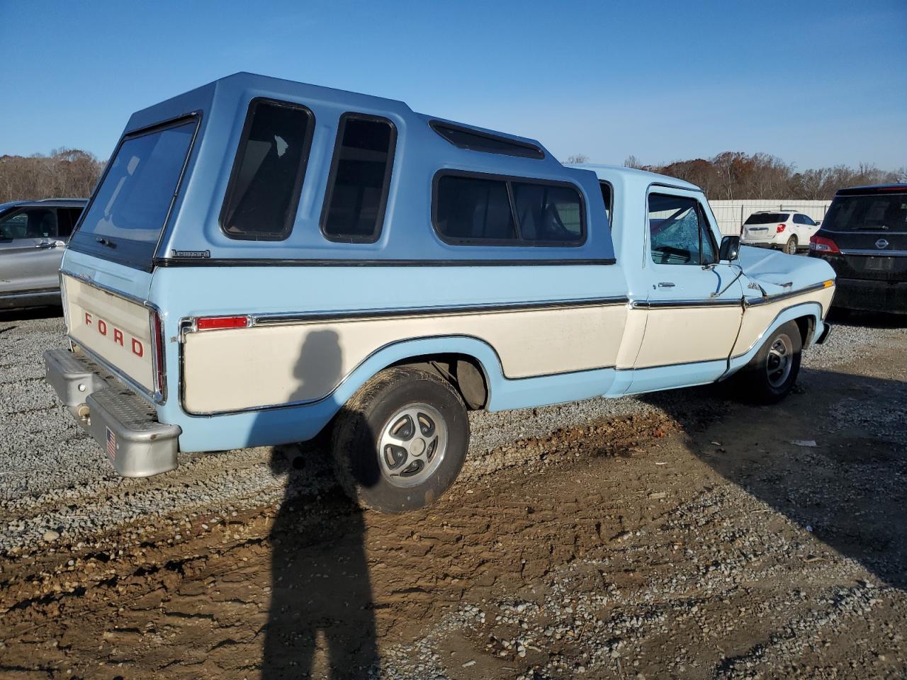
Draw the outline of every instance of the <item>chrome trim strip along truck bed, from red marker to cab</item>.
<instances>
[{"instance_id":1,"label":"chrome trim strip along truck bed, from red marker to cab","mask_svg":"<svg viewBox=\"0 0 907 680\"><path fill-rule=\"evenodd\" d=\"M275 312L272 314L253 314L251 325L297 324L308 321L361 321L407 316L444 316L463 314L482 314L500 312L523 312L544 309L571 309L590 306L626 305L629 297L597 297L586 300L549 300L545 302L518 302L504 305L463 305L446 307L416 307L412 309L379 309L343 312ZM229 315L227 315L229 316ZM191 332L195 332L193 326Z\"/></svg>"}]
</instances>

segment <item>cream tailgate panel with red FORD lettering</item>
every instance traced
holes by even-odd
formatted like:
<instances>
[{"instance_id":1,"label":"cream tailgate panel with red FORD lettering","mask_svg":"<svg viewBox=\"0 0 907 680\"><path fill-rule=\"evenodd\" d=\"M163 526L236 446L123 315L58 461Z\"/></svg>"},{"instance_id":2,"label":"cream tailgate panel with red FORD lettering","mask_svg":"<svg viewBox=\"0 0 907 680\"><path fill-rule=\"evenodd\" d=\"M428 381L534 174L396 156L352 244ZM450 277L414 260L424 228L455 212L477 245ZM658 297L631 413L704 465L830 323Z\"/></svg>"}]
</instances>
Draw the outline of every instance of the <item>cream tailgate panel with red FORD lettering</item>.
<instances>
[{"instance_id":1,"label":"cream tailgate panel with red FORD lettering","mask_svg":"<svg viewBox=\"0 0 907 680\"><path fill-rule=\"evenodd\" d=\"M154 366L148 308L73 277L63 277L63 287L73 341L151 392Z\"/></svg>"}]
</instances>

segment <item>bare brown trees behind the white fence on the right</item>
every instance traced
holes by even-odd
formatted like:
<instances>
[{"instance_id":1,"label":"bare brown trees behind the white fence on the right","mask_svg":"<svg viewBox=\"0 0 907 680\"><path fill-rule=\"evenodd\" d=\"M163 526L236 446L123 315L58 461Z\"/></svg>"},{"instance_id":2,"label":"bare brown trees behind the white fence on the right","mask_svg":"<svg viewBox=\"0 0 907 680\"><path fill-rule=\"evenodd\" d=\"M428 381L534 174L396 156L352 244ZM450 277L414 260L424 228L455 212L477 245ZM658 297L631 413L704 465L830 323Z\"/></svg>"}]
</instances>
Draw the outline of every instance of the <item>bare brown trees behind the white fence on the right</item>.
<instances>
[{"instance_id":1,"label":"bare brown trees behind the white fence on the right","mask_svg":"<svg viewBox=\"0 0 907 680\"><path fill-rule=\"evenodd\" d=\"M587 160L580 154L566 162ZM644 165L630 156L624 166L687 180L701 187L710 199L824 200L834 198L834 192L844 187L907 182L907 166L889 171L861 163L856 168L835 165L798 171L793 163L777 156L747 155L743 151L725 151L709 159L675 160L663 165Z\"/></svg>"}]
</instances>

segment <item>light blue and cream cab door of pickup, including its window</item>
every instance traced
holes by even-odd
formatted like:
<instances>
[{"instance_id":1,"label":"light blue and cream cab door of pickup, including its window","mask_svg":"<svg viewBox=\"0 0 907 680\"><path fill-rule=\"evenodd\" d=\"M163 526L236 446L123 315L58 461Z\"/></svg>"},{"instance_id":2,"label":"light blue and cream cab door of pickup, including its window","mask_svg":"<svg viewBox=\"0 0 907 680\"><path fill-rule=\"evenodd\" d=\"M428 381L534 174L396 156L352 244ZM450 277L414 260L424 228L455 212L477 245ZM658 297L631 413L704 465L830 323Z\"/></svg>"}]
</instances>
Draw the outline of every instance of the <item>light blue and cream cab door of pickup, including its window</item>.
<instances>
[{"instance_id":1,"label":"light blue and cream cab door of pickup, including its window","mask_svg":"<svg viewBox=\"0 0 907 680\"><path fill-rule=\"evenodd\" d=\"M637 303L648 314L634 392L716 380L743 317L739 267L718 262L717 232L701 196L664 191L653 188L648 197L649 297ZM647 372L654 382L646 384L639 369L656 367L665 369Z\"/></svg>"}]
</instances>

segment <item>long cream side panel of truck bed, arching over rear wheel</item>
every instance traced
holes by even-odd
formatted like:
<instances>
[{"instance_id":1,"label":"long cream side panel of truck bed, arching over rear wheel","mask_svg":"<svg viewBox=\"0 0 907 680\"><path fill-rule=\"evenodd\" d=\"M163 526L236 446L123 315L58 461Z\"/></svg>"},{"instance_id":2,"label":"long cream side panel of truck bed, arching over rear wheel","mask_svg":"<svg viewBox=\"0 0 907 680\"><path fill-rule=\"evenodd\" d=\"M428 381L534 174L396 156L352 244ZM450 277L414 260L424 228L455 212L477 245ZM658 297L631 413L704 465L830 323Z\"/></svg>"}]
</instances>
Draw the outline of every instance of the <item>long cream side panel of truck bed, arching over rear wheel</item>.
<instances>
[{"instance_id":1,"label":"long cream side panel of truck bed, arching over rear wheel","mask_svg":"<svg viewBox=\"0 0 907 680\"><path fill-rule=\"evenodd\" d=\"M384 345L473 335L508 378L613 366L627 306L259 325L186 336L185 406L214 413L326 396Z\"/></svg>"}]
</instances>

